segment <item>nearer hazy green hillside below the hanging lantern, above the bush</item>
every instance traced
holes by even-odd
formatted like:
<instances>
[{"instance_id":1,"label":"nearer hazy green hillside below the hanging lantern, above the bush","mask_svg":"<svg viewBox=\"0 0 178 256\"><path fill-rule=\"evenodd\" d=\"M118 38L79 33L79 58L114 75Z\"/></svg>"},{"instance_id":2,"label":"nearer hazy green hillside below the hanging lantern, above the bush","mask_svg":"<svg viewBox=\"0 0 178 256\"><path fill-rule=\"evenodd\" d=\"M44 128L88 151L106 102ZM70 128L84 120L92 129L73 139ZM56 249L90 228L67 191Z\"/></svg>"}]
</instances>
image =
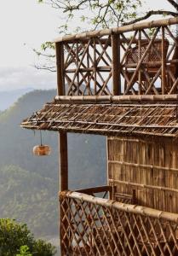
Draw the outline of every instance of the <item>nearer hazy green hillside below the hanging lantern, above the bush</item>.
<instances>
[{"instance_id":1,"label":"nearer hazy green hillside below the hanging lantern, above the bush","mask_svg":"<svg viewBox=\"0 0 178 256\"><path fill-rule=\"evenodd\" d=\"M28 223L37 236L55 236L57 229L55 179L18 166L0 169L0 217ZM53 221L52 221L53 219Z\"/></svg>"}]
</instances>

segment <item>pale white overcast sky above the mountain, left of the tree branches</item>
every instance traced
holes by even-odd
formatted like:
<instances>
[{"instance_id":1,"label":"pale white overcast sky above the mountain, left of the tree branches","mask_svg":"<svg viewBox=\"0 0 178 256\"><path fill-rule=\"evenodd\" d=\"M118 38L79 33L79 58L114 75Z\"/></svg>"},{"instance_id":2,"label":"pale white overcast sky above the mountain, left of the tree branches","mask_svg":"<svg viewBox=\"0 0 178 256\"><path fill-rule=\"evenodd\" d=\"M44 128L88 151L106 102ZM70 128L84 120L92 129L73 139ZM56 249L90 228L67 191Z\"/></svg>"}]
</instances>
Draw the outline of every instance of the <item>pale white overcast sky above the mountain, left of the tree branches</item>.
<instances>
[{"instance_id":1,"label":"pale white overcast sky above the mountain, left of the tree branches","mask_svg":"<svg viewBox=\"0 0 178 256\"><path fill-rule=\"evenodd\" d=\"M145 9L166 9L164 0L146 0ZM87 15L87 12L86 12ZM37 70L37 56L45 41L59 37L59 11L37 0L0 0L0 91L56 87L55 73Z\"/></svg>"}]
</instances>

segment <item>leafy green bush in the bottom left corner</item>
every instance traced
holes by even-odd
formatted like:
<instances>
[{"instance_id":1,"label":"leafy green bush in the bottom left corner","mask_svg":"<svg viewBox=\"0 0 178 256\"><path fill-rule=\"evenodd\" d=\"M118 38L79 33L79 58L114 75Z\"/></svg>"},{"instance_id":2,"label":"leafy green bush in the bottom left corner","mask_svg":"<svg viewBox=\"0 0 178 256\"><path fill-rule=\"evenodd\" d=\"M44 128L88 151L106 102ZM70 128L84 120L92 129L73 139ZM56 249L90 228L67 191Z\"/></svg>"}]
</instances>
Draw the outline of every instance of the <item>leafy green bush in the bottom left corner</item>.
<instances>
[{"instance_id":1,"label":"leafy green bush in the bottom left corner","mask_svg":"<svg viewBox=\"0 0 178 256\"><path fill-rule=\"evenodd\" d=\"M50 243L35 240L26 224L9 218L0 219L1 256L53 256L56 250Z\"/></svg>"}]
</instances>

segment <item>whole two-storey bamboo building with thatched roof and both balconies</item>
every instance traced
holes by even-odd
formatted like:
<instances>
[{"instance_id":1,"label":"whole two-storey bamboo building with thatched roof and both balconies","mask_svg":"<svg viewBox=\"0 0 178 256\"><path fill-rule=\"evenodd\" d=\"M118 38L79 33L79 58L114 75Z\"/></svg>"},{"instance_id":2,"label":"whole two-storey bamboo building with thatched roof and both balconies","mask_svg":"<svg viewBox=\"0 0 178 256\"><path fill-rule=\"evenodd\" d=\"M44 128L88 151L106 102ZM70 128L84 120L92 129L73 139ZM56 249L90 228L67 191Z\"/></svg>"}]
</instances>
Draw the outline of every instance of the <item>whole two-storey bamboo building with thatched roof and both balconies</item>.
<instances>
[{"instance_id":1,"label":"whole two-storey bamboo building with thatched roof and both balconies","mask_svg":"<svg viewBox=\"0 0 178 256\"><path fill-rule=\"evenodd\" d=\"M57 93L24 120L60 136L61 255L178 255L178 18L55 40ZM68 188L67 132L107 138L107 183Z\"/></svg>"}]
</instances>

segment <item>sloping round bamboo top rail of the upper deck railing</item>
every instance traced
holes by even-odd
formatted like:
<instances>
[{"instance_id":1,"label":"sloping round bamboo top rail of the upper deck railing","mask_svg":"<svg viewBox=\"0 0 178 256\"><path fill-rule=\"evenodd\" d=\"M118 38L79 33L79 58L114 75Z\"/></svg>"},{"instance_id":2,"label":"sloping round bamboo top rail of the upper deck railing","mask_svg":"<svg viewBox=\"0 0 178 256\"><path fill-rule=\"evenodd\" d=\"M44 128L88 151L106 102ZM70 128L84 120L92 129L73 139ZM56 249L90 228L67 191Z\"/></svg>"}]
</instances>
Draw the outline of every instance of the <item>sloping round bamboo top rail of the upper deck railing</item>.
<instances>
[{"instance_id":1,"label":"sloping round bamboo top rail of the upper deck railing","mask_svg":"<svg viewBox=\"0 0 178 256\"><path fill-rule=\"evenodd\" d=\"M78 34L72 34L72 35L67 35L64 37L56 38L55 43L59 42L66 42L70 40L78 40L78 39L83 39L83 38L95 38L95 37L100 37L100 36L105 36L105 35L111 35L111 34L119 34L123 32L131 32L134 30L141 30L141 29L146 29L146 28L152 28L152 27L160 27L160 26L169 26L169 25L175 25L178 23L178 18L169 18L169 19L164 19L164 20L151 20L147 22L141 22L141 23L136 23L132 24L129 26L119 26L119 27L114 27L111 29L104 29L104 30L98 30L98 31L91 31L91 32L82 32Z\"/></svg>"}]
</instances>

